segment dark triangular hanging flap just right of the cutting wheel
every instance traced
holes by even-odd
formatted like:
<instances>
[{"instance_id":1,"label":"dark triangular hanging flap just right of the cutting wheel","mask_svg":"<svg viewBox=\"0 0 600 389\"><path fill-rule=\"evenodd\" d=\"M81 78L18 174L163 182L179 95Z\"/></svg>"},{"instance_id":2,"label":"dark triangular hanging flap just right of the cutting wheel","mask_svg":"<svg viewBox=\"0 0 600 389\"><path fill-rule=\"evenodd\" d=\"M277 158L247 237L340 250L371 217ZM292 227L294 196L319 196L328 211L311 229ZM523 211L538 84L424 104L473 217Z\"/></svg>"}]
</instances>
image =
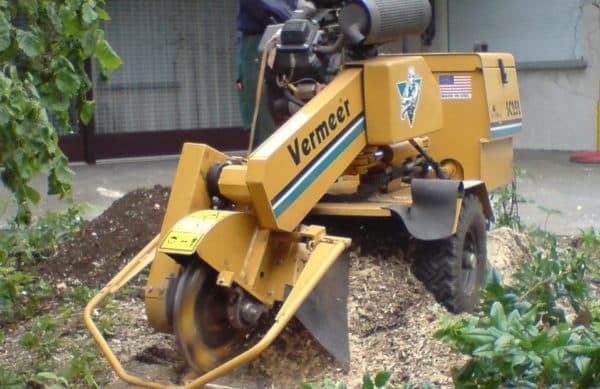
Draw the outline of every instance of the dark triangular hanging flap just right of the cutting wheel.
<instances>
[{"instance_id":1,"label":"dark triangular hanging flap just right of the cutting wheel","mask_svg":"<svg viewBox=\"0 0 600 389\"><path fill-rule=\"evenodd\" d=\"M349 276L350 259L344 252L296 312L300 322L344 369L350 367Z\"/></svg>"}]
</instances>

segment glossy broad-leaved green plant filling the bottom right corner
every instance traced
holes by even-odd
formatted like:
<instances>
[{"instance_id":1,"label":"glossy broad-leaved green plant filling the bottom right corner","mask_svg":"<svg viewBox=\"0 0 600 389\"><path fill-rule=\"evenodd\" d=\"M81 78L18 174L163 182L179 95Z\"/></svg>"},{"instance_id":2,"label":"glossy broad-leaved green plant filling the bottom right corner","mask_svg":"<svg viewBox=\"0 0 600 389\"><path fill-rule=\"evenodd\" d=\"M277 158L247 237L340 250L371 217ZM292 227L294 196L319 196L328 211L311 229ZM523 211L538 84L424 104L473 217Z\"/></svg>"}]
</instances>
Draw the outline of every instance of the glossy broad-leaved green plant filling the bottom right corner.
<instances>
[{"instance_id":1,"label":"glossy broad-leaved green plant filling the bottom right corner","mask_svg":"<svg viewBox=\"0 0 600 389\"><path fill-rule=\"evenodd\" d=\"M487 314L447 323L437 334L472 357L454 372L457 387L587 388L600 379L596 331L544 326L526 305L508 311L495 302Z\"/></svg>"}]
</instances>

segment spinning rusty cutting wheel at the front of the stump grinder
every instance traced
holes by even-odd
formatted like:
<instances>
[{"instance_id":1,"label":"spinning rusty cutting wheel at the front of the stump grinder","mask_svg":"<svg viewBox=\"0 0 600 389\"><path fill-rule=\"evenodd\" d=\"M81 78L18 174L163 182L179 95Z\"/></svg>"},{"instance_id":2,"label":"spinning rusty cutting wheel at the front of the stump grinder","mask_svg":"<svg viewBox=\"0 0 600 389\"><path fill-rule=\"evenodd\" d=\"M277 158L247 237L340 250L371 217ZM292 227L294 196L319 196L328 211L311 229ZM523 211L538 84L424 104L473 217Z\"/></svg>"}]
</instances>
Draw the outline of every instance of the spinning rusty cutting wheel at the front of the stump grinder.
<instances>
[{"instance_id":1,"label":"spinning rusty cutting wheel at the front of the stump grinder","mask_svg":"<svg viewBox=\"0 0 600 389\"><path fill-rule=\"evenodd\" d=\"M228 288L215 284L216 272L192 262L180 274L173 304L173 329L189 366L205 372L240 350L244 330L227 318Z\"/></svg>"}]
</instances>

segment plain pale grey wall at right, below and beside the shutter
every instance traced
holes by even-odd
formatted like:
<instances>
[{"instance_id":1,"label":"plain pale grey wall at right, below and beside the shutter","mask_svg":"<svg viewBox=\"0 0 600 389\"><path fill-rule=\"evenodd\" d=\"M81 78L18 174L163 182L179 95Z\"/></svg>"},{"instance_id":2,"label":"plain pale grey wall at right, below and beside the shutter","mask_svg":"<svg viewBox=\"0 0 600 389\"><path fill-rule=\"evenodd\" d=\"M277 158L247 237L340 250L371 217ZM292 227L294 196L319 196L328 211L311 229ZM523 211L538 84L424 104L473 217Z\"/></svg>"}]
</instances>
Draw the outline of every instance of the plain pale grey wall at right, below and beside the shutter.
<instances>
[{"instance_id":1,"label":"plain pale grey wall at right, below and beside the shutter","mask_svg":"<svg viewBox=\"0 0 600 389\"><path fill-rule=\"evenodd\" d=\"M595 150L600 101L600 1L582 0L585 69L520 70L518 148Z\"/></svg>"}]
</instances>

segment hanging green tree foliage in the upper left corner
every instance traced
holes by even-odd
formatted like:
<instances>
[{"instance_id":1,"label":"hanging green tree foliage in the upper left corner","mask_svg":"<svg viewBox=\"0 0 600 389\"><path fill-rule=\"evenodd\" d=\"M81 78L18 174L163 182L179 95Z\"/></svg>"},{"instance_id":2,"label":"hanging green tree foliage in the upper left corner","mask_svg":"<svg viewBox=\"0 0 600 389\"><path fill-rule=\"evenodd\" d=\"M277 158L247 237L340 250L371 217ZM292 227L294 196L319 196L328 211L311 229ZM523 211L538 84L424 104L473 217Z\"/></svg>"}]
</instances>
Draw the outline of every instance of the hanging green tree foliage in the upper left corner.
<instances>
[{"instance_id":1,"label":"hanging green tree foliage in the upper left corner","mask_svg":"<svg viewBox=\"0 0 600 389\"><path fill-rule=\"evenodd\" d=\"M58 134L91 120L95 102L86 61L101 77L121 65L101 23L104 0L0 0L0 167L14 193L16 221L29 223L39 194L29 185L43 172L48 193L71 190L72 172Z\"/></svg>"}]
</instances>

